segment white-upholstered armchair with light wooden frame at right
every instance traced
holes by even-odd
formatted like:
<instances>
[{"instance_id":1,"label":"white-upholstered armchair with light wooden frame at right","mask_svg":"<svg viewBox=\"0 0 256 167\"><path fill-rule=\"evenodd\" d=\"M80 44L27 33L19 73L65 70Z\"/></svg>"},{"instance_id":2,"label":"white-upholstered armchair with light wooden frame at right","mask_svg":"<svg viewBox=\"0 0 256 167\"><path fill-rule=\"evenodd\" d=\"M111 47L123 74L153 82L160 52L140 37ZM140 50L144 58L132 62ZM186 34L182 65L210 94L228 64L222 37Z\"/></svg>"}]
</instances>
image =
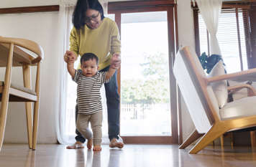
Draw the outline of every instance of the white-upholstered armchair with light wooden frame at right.
<instances>
[{"instance_id":1,"label":"white-upholstered armchair with light wooden frame at right","mask_svg":"<svg viewBox=\"0 0 256 167\"><path fill-rule=\"evenodd\" d=\"M191 52L189 47L183 47L175 57L173 73L196 127L196 130L180 145L180 148L186 148L202 137L189 151L189 153L198 153L214 139L228 131L256 125L256 92L253 87L244 85L251 92L254 92L254 96L228 102L221 109L219 109L211 87L211 82L221 80L255 80L256 69L206 77L196 53ZM229 87L229 89L232 88L237 89L239 87Z\"/></svg>"}]
</instances>

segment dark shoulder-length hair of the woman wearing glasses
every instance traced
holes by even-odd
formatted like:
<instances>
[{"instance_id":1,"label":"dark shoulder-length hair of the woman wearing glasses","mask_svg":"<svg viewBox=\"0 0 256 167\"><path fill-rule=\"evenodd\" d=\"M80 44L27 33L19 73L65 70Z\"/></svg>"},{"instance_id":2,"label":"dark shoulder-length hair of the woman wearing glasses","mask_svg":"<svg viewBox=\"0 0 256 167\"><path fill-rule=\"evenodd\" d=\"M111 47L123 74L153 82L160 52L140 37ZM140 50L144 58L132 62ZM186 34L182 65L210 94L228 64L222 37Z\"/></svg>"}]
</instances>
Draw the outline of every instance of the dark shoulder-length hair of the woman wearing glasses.
<instances>
[{"instance_id":1,"label":"dark shoulder-length hair of the woman wearing glasses","mask_svg":"<svg viewBox=\"0 0 256 167\"><path fill-rule=\"evenodd\" d=\"M76 29L81 29L86 24L87 9L99 11L101 14L101 20L104 19L103 7L98 0L78 0L76 2L76 7L73 11L72 18L72 22Z\"/></svg>"}]
</instances>

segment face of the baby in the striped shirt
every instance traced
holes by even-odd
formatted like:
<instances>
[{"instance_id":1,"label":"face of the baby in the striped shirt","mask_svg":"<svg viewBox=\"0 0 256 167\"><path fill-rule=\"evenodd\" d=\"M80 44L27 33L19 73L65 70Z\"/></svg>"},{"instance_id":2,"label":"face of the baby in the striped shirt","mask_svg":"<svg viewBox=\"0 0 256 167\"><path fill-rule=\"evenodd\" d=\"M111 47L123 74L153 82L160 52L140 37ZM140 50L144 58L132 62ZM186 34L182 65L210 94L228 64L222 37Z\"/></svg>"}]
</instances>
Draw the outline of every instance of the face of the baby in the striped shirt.
<instances>
[{"instance_id":1,"label":"face of the baby in the striped shirt","mask_svg":"<svg viewBox=\"0 0 256 167\"><path fill-rule=\"evenodd\" d=\"M93 77L98 72L98 65L96 63L96 59L89 59L87 61L82 62L81 70L83 75L86 77Z\"/></svg>"}]
</instances>

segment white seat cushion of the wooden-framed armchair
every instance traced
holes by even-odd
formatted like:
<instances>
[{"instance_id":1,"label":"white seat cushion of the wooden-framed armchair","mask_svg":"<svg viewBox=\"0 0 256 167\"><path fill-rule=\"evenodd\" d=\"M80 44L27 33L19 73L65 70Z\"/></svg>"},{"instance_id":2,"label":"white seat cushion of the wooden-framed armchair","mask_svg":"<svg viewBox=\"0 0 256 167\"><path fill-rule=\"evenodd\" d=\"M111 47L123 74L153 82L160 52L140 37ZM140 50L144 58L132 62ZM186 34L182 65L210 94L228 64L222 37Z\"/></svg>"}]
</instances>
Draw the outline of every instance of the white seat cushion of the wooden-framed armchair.
<instances>
[{"instance_id":1,"label":"white seat cushion of the wooden-framed armchair","mask_svg":"<svg viewBox=\"0 0 256 167\"><path fill-rule=\"evenodd\" d=\"M242 99L227 103L219 110L221 120L256 115L255 102L256 96L252 96L244 97Z\"/></svg>"}]
</instances>

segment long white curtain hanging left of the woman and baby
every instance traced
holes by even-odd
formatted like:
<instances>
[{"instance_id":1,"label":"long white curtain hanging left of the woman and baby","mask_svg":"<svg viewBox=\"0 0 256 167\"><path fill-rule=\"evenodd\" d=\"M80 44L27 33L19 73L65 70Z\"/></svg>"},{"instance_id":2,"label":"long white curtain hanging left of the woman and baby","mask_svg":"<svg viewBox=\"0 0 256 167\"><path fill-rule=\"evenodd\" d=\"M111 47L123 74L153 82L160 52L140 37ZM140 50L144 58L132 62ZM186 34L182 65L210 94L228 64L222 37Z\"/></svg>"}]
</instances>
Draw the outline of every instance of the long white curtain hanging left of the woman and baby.
<instances>
[{"instance_id":1,"label":"long white curtain hanging left of the woman and baby","mask_svg":"<svg viewBox=\"0 0 256 167\"><path fill-rule=\"evenodd\" d=\"M66 124L67 124L67 118L66 118L66 97L67 97L67 77L68 72L66 69L65 62L63 60L63 55L65 51L68 49L69 45L69 35L70 35L70 29L72 27L71 20L72 20L72 14L73 9L76 2L70 3L65 0L60 0L60 11L59 11L59 34L58 34L58 41L59 41L59 55L60 57L60 65L59 65L59 76L60 76L60 87L59 87L59 110L56 111L56 132L58 136L58 141L61 144L68 144L73 143L70 138L68 138L68 135L66 133ZM75 108L75 106L74 106Z\"/></svg>"}]
</instances>

